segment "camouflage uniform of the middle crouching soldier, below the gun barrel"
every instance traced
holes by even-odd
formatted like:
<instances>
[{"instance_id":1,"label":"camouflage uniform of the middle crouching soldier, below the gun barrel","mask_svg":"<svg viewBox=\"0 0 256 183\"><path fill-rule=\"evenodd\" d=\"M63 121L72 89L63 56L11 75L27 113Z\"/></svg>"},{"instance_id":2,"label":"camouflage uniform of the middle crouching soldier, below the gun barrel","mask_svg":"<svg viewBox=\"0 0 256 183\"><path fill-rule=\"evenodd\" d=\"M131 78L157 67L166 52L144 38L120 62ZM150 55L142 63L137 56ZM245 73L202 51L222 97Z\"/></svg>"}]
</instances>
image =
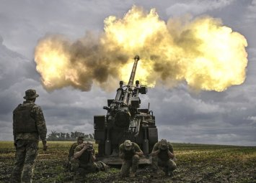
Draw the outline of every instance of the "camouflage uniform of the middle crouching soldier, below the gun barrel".
<instances>
[{"instance_id":1,"label":"camouflage uniform of the middle crouching soldier, below the gun barrel","mask_svg":"<svg viewBox=\"0 0 256 183\"><path fill-rule=\"evenodd\" d=\"M135 154L135 152L141 152L138 144L131 142L131 150L127 151L125 150L125 143L123 143L119 146L119 151L120 154L124 155L123 157L121 157L123 159L121 176L128 177L128 175L130 174L130 168L131 172L135 174L138 169L138 161L140 159L140 157Z\"/></svg>"}]
</instances>

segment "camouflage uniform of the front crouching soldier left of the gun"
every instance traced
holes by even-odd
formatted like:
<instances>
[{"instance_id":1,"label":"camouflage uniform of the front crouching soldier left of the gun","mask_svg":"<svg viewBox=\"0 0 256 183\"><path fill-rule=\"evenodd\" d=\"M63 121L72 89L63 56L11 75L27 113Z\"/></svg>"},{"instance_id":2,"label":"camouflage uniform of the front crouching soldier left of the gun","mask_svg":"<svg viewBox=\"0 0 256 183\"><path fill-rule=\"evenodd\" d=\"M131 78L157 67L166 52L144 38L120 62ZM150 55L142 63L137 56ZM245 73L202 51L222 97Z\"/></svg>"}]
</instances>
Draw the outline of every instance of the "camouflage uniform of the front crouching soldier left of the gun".
<instances>
[{"instance_id":1,"label":"camouflage uniform of the front crouching soldier left of the gun","mask_svg":"<svg viewBox=\"0 0 256 183\"><path fill-rule=\"evenodd\" d=\"M81 151L84 145L81 144L76 146L74 154ZM94 148L92 149L92 155L95 156ZM72 164L74 164L74 183L81 183L86 181L86 174L99 172L99 167L91 159L91 151L85 150L84 153L78 158L73 159Z\"/></svg>"}]
</instances>

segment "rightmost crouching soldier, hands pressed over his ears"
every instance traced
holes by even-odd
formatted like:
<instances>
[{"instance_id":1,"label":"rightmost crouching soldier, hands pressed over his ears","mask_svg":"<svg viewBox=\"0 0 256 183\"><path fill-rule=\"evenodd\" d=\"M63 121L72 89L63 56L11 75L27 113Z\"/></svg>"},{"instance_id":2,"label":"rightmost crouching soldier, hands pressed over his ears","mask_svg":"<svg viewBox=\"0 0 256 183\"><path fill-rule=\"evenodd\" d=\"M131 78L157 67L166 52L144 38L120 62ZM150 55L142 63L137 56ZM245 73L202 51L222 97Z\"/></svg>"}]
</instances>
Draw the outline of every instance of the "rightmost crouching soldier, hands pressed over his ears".
<instances>
[{"instance_id":1,"label":"rightmost crouching soldier, hands pressed over his ears","mask_svg":"<svg viewBox=\"0 0 256 183\"><path fill-rule=\"evenodd\" d=\"M164 173L172 177L173 171L176 169L175 153L173 151L172 144L167 140L162 139L161 141L154 144L151 156L157 157L157 165L164 168Z\"/></svg>"}]
</instances>

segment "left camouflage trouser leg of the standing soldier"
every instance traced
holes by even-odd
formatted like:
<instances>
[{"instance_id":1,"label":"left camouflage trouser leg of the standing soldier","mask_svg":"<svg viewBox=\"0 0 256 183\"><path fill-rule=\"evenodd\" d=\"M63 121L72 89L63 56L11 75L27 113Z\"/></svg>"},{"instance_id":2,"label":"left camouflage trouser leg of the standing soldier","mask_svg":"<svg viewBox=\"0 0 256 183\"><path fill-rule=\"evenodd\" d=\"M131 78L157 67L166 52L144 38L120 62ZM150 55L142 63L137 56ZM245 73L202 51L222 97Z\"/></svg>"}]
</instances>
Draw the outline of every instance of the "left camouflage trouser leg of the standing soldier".
<instances>
[{"instance_id":1,"label":"left camouflage trouser leg of the standing soldier","mask_svg":"<svg viewBox=\"0 0 256 183\"><path fill-rule=\"evenodd\" d=\"M25 161L25 146L20 146L17 148L14 159L14 169L12 171L11 183L21 182L22 170Z\"/></svg>"}]
</instances>

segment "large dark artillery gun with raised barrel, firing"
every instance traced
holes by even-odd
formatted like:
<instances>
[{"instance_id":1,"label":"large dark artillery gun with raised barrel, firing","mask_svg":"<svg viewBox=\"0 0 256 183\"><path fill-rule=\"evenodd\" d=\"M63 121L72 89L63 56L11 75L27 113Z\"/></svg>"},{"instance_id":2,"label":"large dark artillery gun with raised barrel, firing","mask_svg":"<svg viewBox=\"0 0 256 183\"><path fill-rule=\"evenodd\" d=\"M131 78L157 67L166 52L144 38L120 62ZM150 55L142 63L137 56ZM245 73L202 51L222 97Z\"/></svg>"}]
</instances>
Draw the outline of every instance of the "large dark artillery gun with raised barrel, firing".
<instances>
[{"instance_id":1,"label":"large dark artillery gun with raised barrel, firing","mask_svg":"<svg viewBox=\"0 0 256 183\"><path fill-rule=\"evenodd\" d=\"M144 152L144 157L139 164L151 164L149 156L154 144L158 141L158 133L155 125L155 116L149 108L140 108L141 99L138 94L146 94L147 86L136 85L133 81L139 57L134 57L133 70L128 81L124 85L120 81L115 99L108 99L106 116L94 116L94 139L98 144L97 159L106 164L122 164L118 157L119 146L129 139L136 142Z\"/></svg>"}]
</instances>

